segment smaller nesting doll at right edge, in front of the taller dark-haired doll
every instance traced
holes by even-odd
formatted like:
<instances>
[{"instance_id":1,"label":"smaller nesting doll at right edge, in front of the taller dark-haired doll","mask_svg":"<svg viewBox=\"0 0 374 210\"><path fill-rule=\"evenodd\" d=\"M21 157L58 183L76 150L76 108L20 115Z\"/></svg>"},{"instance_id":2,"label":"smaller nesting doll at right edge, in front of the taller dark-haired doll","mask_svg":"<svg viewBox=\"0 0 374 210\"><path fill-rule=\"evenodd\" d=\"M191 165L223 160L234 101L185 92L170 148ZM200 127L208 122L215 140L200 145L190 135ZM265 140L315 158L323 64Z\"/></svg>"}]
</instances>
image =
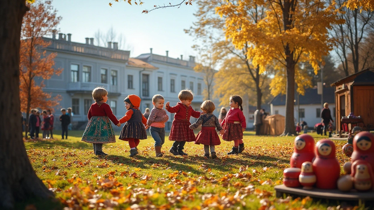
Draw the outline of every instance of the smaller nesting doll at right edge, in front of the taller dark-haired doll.
<instances>
[{"instance_id":1,"label":"smaller nesting doll at right edge, in front of the taller dark-haired doll","mask_svg":"<svg viewBox=\"0 0 374 210\"><path fill-rule=\"evenodd\" d=\"M359 191L367 191L373 188L373 170L368 162L356 160L352 164L353 186Z\"/></svg>"}]
</instances>

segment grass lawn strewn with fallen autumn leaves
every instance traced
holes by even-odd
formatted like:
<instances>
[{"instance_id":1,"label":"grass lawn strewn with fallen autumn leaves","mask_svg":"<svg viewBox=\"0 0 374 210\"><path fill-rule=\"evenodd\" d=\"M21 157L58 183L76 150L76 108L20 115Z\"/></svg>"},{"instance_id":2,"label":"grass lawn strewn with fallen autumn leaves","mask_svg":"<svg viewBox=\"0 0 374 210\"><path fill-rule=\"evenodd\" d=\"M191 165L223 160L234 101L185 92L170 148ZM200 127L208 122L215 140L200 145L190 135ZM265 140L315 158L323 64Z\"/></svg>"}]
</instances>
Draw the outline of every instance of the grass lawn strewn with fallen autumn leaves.
<instances>
[{"instance_id":1,"label":"grass lawn strewn with fallen autumn leaves","mask_svg":"<svg viewBox=\"0 0 374 210\"><path fill-rule=\"evenodd\" d=\"M61 138L60 131L54 133L55 138ZM156 158L149 133L148 139L140 141L137 156L130 158L128 143L117 140L104 144L103 151L109 155L100 158L93 154L92 144L81 141L83 131L69 134L67 140L25 142L34 170L63 207L198 210L327 209L338 205L275 197L274 186L282 184L283 170L289 167L292 136L245 132L242 154L226 155L233 143L222 141L216 146L218 158L212 160L203 157L203 145L193 142L186 143L188 156L173 156L167 137L162 147L164 156ZM316 142L321 139L316 133L312 136ZM341 152L345 142L334 142L343 166L349 161Z\"/></svg>"}]
</instances>

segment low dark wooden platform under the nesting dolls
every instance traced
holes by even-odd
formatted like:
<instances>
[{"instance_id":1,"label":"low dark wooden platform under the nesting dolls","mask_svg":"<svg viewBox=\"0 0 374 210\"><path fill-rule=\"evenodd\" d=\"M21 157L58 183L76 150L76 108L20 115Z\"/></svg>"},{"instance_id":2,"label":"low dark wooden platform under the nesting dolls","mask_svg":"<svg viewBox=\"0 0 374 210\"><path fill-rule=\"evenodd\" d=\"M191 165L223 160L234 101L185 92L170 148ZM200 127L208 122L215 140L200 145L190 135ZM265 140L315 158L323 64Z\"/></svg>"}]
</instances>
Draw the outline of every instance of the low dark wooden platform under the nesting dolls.
<instances>
[{"instance_id":1,"label":"low dark wooden platform under the nesting dolls","mask_svg":"<svg viewBox=\"0 0 374 210\"><path fill-rule=\"evenodd\" d=\"M283 197L283 194L311 198L320 198L328 200L338 200L338 201L369 201L374 202L374 191L368 192L341 192L338 189L317 189L313 188L310 190L305 190L303 188L289 188L284 185L278 185L274 187L277 197Z\"/></svg>"}]
</instances>

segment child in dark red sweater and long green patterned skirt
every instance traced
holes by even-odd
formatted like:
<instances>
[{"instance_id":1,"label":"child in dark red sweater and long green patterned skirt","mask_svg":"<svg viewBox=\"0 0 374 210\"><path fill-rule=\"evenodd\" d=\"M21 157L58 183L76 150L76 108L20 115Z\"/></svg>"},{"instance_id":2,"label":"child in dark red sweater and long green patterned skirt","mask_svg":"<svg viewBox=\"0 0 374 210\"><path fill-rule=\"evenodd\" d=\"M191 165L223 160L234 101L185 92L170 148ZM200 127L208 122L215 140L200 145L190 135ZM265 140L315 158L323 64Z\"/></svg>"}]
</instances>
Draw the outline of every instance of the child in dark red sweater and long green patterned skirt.
<instances>
[{"instance_id":1,"label":"child in dark red sweater and long green patterned skirt","mask_svg":"<svg viewBox=\"0 0 374 210\"><path fill-rule=\"evenodd\" d=\"M95 101L88 110L88 124L82 136L82 141L92 143L95 155L108 155L102 152L103 143L116 142L111 120L118 127L121 126L114 116L110 106L105 104L108 101L108 92L102 87L92 90L92 98Z\"/></svg>"}]
</instances>

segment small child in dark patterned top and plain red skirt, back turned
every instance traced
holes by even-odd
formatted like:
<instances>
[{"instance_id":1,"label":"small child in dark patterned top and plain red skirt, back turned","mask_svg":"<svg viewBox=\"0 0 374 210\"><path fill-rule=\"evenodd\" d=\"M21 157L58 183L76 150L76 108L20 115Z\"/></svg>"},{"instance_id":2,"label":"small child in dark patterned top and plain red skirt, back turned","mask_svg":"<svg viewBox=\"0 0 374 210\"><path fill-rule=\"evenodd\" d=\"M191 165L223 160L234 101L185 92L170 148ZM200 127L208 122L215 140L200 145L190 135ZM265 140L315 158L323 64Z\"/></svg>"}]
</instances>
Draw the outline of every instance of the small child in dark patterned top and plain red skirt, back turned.
<instances>
[{"instance_id":1,"label":"small child in dark patterned top and plain red skirt, back turned","mask_svg":"<svg viewBox=\"0 0 374 210\"><path fill-rule=\"evenodd\" d=\"M218 118L212 113L215 110L214 103L212 101L204 101L200 109L205 113L200 115L196 123L190 125L190 129L196 129L201 124L201 130L196 136L196 144L202 143L204 145L204 156L209 158L209 148L211 150L212 159L217 158L215 153L215 145L220 145L220 137L218 137L215 128L223 134L223 129L218 122Z\"/></svg>"}]
</instances>

